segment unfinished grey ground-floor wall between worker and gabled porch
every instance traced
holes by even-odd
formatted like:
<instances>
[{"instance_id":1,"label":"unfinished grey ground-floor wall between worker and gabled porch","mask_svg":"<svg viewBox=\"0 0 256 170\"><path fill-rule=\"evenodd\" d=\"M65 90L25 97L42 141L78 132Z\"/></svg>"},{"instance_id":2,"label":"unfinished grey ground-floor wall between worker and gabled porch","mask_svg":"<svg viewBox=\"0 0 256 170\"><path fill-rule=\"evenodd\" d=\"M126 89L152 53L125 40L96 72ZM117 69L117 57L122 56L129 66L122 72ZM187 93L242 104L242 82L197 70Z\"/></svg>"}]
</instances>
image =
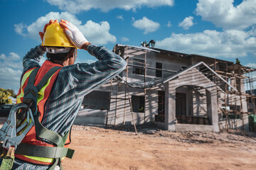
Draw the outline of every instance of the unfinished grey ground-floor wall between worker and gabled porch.
<instances>
[{"instance_id":1,"label":"unfinished grey ground-floor wall between worker and gabled porch","mask_svg":"<svg viewBox=\"0 0 256 170\"><path fill-rule=\"evenodd\" d=\"M110 91L110 82L97 90ZM133 112L132 118L132 108L129 104L128 94L125 96L124 84L117 86L117 81L113 81L110 110L82 109L78 112L75 123L105 124L107 121L108 125L122 125L123 123L125 125L133 125L134 120L134 123L139 125L154 122L154 115L158 113L158 91L163 90L163 87L156 87L150 91L146 91L145 113ZM144 96L144 89L129 88L129 96L131 99L132 96ZM125 98L127 98L127 100L125 100Z\"/></svg>"}]
</instances>

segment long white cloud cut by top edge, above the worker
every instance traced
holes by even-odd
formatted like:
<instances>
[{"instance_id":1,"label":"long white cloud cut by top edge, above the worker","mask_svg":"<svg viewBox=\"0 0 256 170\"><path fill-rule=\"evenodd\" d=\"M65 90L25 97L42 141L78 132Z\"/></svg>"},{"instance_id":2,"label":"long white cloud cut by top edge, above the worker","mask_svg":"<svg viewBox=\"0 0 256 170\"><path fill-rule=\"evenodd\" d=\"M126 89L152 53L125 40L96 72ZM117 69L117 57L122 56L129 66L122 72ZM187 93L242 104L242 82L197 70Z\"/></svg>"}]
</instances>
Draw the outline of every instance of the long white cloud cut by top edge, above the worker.
<instances>
[{"instance_id":1,"label":"long white cloud cut by top edge, above the worker","mask_svg":"<svg viewBox=\"0 0 256 170\"><path fill-rule=\"evenodd\" d=\"M173 6L174 0L47 0L49 4L58 6L60 10L68 11L70 13L79 13L80 11L89 11L92 8L100 9L103 12L110 11L114 8L122 8L124 10L136 11L137 8L147 6L150 8L157 6Z\"/></svg>"}]
</instances>

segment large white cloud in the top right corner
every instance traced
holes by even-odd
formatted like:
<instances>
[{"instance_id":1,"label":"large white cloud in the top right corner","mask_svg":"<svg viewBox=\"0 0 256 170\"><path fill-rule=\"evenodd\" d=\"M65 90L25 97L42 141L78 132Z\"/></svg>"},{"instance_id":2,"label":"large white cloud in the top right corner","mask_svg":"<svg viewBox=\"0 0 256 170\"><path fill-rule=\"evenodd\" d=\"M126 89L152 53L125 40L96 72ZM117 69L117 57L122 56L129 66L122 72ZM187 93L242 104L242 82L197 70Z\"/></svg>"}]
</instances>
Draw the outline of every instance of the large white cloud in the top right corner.
<instances>
[{"instance_id":1,"label":"large white cloud in the top right corner","mask_svg":"<svg viewBox=\"0 0 256 170\"><path fill-rule=\"evenodd\" d=\"M256 1L242 1L238 6L234 0L199 0L196 14L220 28L245 29L256 24Z\"/></svg>"}]
</instances>

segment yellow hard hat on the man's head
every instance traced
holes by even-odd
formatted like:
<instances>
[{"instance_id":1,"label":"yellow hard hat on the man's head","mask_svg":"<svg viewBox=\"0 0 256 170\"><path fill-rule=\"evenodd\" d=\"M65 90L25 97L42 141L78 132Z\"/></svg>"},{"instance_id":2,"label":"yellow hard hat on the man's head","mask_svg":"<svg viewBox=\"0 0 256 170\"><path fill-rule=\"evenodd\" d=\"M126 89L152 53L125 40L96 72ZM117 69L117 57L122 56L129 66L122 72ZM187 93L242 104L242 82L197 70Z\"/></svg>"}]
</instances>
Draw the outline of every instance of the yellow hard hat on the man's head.
<instances>
[{"instance_id":1,"label":"yellow hard hat on the man's head","mask_svg":"<svg viewBox=\"0 0 256 170\"><path fill-rule=\"evenodd\" d=\"M67 35L65 35L64 29L59 23L52 23L46 28L42 45L50 47L75 47Z\"/></svg>"}]
</instances>

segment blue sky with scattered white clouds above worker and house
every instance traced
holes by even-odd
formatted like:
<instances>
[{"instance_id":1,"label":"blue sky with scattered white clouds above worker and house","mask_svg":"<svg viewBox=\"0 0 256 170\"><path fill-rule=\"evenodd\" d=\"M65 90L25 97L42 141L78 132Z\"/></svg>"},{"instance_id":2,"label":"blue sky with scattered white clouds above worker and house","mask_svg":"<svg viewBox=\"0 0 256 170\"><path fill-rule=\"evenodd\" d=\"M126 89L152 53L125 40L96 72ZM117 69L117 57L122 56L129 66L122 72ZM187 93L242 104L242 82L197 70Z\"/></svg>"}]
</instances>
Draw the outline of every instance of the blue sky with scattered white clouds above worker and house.
<instances>
[{"instance_id":1,"label":"blue sky with scattered white clouds above worker and house","mask_svg":"<svg viewBox=\"0 0 256 170\"><path fill-rule=\"evenodd\" d=\"M0 87L16 92L22 57L41 44L50 19L70 21L110 50L155 40L164 50L256 68L256 0L0 0L0 15ZM78 62L94 61L79 50Z\"/></svg>"}]
</instances>

